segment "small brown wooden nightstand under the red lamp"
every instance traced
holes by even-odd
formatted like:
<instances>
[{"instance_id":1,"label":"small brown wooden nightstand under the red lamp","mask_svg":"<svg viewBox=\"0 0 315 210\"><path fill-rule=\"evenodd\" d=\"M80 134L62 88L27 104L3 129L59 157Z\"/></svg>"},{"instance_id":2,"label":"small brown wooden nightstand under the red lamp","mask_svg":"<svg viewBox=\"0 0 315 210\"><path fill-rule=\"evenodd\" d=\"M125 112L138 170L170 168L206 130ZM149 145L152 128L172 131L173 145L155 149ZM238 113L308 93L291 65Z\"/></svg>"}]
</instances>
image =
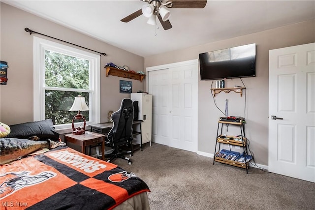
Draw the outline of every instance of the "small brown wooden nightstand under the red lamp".
<instances>
[{"instance_id":1,"label":"small brown wooden nightstand under the red lamp","mask_svg":"<svg viewBox=\"0 0 315 210\"><path fill-rule=\"evenodd\" d=\"M72 144L81 146L81 152L86 153L85 147L102 143L102 160L104 160L105 152L105 137L106 135L85 131L85 134L75 135L72 133L64 134L64 143L71 142Z\"/></svg>"}]
</instances>

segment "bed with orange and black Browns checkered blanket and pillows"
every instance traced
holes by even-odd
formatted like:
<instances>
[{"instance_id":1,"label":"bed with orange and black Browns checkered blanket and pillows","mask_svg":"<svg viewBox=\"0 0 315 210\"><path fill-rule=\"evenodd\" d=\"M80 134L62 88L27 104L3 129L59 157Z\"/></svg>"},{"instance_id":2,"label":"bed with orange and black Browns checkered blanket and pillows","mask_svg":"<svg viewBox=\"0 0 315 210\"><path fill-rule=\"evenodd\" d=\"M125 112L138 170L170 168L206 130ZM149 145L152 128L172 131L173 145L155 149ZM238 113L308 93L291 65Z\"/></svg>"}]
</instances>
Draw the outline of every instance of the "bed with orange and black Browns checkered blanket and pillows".
<instances>
[{"instance_id":1,"label":"bed with orange and black Browns checkered blanket and pillows","mask_svg":"<svg viewBox=\"0 0 315 210\"><path fill-rule=\"evenodd\" d=\"M46 131L54 131L49 126ZM150 189L135 174L65 146L54 132L48 138L42 128L31 127L16 138L16 127L10 126L11 133L0 138L1 209L150 209Z\"/></svg>"}]
</instances>

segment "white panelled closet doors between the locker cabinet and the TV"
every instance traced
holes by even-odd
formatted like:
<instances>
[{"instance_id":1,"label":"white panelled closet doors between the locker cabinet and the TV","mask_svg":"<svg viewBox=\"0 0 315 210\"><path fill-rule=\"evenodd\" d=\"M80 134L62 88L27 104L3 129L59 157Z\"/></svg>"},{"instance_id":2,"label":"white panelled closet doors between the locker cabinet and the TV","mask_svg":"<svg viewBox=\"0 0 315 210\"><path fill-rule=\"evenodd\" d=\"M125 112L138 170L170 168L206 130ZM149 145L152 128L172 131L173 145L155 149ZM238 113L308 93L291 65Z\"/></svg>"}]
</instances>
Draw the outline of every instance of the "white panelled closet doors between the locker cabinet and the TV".
<instances>
[{"instance_id":1,"label":"white panelled closet doors between the locker cabinet and the TV","mask_svg":"<svg viewBox=\"0 0 315 210\"><path fill-rule=\"evenodd\" d=\"M152 140L197 151L198 60L147 68L153 97Z\"/></svg>"}]
</instances>

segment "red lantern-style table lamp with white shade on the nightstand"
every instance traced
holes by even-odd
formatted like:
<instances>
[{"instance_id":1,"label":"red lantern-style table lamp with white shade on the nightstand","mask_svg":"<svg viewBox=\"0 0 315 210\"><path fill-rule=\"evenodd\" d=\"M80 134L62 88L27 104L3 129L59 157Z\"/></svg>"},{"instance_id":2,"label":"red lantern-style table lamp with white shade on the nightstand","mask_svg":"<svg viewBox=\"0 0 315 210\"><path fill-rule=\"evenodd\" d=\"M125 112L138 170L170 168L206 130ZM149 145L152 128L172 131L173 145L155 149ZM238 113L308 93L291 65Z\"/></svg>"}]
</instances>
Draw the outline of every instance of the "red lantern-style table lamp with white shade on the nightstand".
<instances>
[{"instance_id":1,"label":"red lantern-style table lamp with white shade on the nightstand","mask_svg":"<svg viewBox=\"0 0 315 210\"><path fill-rule=\"evenodd\" d=\"M80 111L88 111L89 107L85 102L85 98L81 95L74 98L74 102L72 104L72 107L69 109L69 111L78 111L78 114L75 115L72 119L72 133L76 135L84 134L85 133L85 117L80 114ZM83 120L84 124L83 126L74 126L74 120Z\"/></svg>"}]
</instances>

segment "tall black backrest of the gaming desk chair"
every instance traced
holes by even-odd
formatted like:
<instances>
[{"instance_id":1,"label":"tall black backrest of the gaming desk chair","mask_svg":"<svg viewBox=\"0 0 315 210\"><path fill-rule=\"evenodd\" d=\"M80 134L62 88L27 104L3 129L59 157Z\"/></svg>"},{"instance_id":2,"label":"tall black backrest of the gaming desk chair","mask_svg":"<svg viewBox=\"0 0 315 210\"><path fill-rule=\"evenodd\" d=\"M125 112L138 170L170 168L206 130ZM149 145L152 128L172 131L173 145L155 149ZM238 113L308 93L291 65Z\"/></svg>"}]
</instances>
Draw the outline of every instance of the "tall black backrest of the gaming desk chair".
<instances>
[{"instance_id":1,"label":"tall black backrest of the gaming desk chair","mask_svg":"<svg viewBox=\"0 0 315 210\"><path fill-rule=\"evenodd\" d=\"M130 98L122 100L120 109L111 115L113 127L107 135L106 143L121 145L132 140L133 103Z\"/></svg>"}]
</instances>

